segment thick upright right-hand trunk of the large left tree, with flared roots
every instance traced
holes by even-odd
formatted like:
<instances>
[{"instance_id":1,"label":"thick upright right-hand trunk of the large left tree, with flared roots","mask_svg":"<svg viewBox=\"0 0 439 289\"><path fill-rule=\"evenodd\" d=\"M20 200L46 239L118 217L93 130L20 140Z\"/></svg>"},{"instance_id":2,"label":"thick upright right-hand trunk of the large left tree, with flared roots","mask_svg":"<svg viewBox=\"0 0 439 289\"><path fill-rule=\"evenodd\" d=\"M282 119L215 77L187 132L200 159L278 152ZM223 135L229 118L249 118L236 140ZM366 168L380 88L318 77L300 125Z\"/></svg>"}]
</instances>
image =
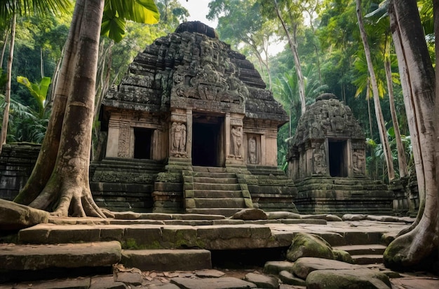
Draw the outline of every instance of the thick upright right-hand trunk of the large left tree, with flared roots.
<instances>
[{"instance_id":1,"label":"thick upright right-hand trunk of the large left tree, with flared roots","mask_svg":"<svg viewBox=\"0 0 439 289\"><path fill-rule=\"evenodd\" d=\"M68 96L58 155L46 186L29 204L37 209L53 210L55 216L105 217L93 201L88 183L103 8L102 0L76 1L74 20L77 23L72 23L71 30L74 31L69 32L69 36L74 38L69 44L76 44L77 49L66 53L71 57L63 59L63 66L65 62L73 62L62 69L73 77L58 83L61 85L59 89L67 92L63 95Z\"/></svg>"}]
</instances>

